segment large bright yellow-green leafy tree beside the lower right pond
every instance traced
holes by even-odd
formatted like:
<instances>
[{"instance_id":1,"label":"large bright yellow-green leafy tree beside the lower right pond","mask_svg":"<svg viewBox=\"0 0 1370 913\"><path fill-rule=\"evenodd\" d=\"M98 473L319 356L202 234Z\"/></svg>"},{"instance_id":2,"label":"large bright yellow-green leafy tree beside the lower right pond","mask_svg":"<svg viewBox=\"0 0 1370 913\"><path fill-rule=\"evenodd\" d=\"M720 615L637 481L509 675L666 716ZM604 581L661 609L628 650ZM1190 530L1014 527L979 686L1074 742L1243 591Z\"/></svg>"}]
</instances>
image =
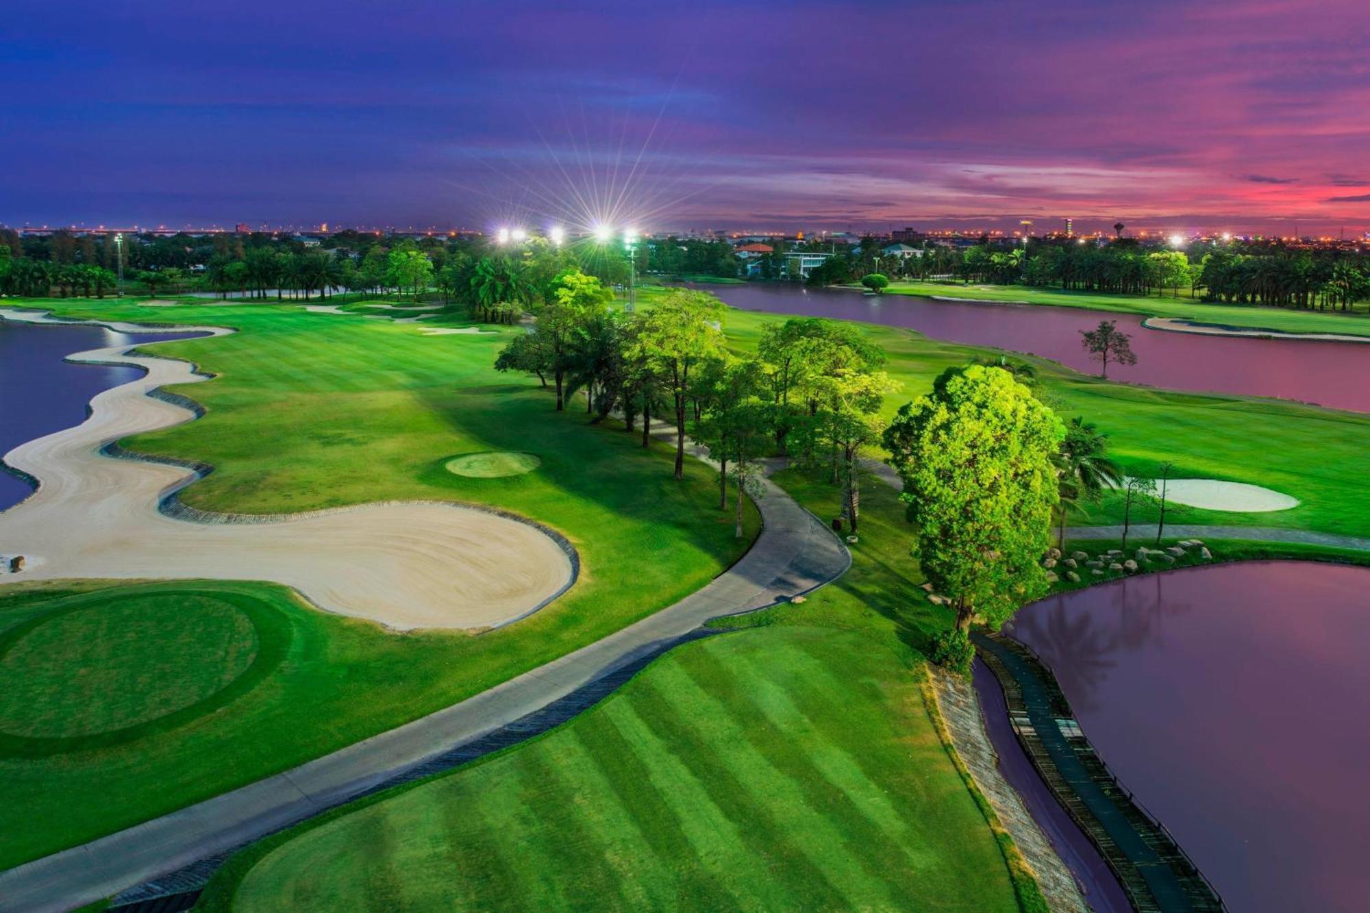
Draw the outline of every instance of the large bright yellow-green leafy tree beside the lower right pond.
<instances>
[{"instance_id":1,"label":"large bright yellow-green leafy tree beside the lower right pond","mask_svg":"<svg viewBox=\"0 0 1370 913\"><path fill-rule=\"evenodd\" d=\"M958 635L977 614L997 629L1047 591L1052 459L1064 433L1030 389L982 365L943 372L885 430L917 529L912 554L952 600Z\"/></svg>"}]
</instances>

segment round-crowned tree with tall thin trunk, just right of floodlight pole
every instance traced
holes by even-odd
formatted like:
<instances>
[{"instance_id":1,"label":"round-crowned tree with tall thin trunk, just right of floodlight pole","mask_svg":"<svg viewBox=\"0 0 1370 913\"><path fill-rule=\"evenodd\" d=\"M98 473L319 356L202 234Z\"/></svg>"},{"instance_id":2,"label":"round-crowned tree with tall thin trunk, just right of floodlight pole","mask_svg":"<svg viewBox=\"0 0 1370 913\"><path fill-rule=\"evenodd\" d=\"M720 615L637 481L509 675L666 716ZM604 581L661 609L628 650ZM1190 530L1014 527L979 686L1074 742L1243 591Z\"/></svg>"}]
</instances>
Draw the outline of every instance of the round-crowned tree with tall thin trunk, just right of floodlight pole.
<instances>
[{"instance_id":1,"label":"round-crowned tree with tall thin trunk, just right of floodlight pole","mask_svg":"<svg viewBox=\"0 0 1370 913\"><path fill-rule=\"evenodd\" d=\"M643 314L634 355L648 362L675 404L675 478L685 478L685 403L690 372L721 358L723 303L693 289L671 289Z\"/></svg>"}]
</instances>

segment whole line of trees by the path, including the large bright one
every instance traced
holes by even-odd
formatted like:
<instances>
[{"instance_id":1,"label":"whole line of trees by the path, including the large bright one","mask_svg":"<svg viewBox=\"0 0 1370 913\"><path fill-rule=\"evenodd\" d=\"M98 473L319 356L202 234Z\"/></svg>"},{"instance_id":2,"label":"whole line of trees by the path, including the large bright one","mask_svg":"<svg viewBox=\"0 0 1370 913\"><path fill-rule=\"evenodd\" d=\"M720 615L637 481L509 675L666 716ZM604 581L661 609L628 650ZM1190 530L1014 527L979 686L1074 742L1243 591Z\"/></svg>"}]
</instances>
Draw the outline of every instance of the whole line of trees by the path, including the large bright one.
<instances>
[{"instance_id":1,"label":"whole line of trees by the path, including the large bright one","mask_svg":"<svg viewBox=\"0 0 1370 913\"><path fill-rule=\"evenodd\" d=\"M584 392L592 421L618 413L629 433L641 429L644 447L652 418L669 418L675 477L692 436L718 463L719 509L734 492L738 536L744 494L760 459L775 454L827 473L855 532L859 454L882 441L904 480L912 551L956 613L934 650L952 665L969 657L973 620L997 628L1045 592L1052 529L1063 547L1069 510L1121 480L1106 437L1084 419L1058 419L1019 365L951 369L886 426L881 403L896 385L884 354L849 324L770 324L755 354L736 355L712 296L677 289L645 313L623 314L578 271L556 277L532 310L532 332L515 337L496 367L536 374L555 391L556 409Z\"/></svg>"}]
</instances>

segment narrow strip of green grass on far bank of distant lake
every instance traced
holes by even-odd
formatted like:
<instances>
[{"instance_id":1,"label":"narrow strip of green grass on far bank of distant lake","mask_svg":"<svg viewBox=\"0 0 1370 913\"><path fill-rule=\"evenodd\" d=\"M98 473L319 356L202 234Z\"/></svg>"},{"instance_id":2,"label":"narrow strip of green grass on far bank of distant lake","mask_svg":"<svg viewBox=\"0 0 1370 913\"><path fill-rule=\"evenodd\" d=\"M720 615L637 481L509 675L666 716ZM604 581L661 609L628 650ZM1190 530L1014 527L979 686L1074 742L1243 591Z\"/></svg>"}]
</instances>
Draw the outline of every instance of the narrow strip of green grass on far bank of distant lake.
<instances>
[{"instance_id":1,"label":"narrow strip of green grass on far bank of distant lake","mask_svg":"<svg viewBox=\"0 0 1370 913\"><path fill-rule=\"evenodd\" d=\"M1285 307L1258 307L1254 304L1206 304L1191 297L1106 295L1101 292L1067 292L1028 285L964 285L962 282L891 282L891 295L918 295L938 297L978 299L984 302L1017 302L1021 304L1055 304L1085 307L1119 314L1145 317L1177 317L1219 326L1245 326L1281 333L1344 333L1370 336L1370 317L1366 313L1296 311Z\"/></svg>"}]
</instances>

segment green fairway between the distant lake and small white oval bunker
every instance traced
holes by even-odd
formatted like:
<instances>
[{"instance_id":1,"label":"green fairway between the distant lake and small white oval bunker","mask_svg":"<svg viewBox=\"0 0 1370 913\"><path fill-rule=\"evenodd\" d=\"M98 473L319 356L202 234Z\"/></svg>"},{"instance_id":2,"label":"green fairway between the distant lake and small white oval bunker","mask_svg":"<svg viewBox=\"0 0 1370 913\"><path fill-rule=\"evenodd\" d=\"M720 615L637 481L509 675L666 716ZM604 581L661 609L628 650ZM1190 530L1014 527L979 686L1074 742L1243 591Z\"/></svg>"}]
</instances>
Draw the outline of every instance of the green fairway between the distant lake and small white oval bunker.
<instances>
[{"instance_id":1,"label":"green fairway between the distant lake and small white oval bunker","mask_svg":"<svg viewBox=\"0 0 1370 913\"><path fill-rule=\"evenodd\" d=\"M755 348L760 329L784 317L730 310L730 343ZM901 388L885 398L885 414L927 392L944 369L995 350L940 343L912 330L863 324L867 337L889 356L886 370ZM1291 343L1296 344L1296 343ZM1284 526L1348 536L1370 536L1370 489L1362 472L1370 452L1370 417L1254 396L1218 396L1111 384L1026 355L1014 361L1037 369L1037 389L1060 415L1082 415L1108 435L1110 451L1134 476L1155 476L1174 463L1175 478L1251 483L1297 498L1274 513L1171 509L1169 522ZM878 450L873 451L878 455ZM1154 522L1151 509L1134 510L1134 522ZM1118 495L1074 517L1073 522L1122 522Z\"/></svg>"}]
</instances>

